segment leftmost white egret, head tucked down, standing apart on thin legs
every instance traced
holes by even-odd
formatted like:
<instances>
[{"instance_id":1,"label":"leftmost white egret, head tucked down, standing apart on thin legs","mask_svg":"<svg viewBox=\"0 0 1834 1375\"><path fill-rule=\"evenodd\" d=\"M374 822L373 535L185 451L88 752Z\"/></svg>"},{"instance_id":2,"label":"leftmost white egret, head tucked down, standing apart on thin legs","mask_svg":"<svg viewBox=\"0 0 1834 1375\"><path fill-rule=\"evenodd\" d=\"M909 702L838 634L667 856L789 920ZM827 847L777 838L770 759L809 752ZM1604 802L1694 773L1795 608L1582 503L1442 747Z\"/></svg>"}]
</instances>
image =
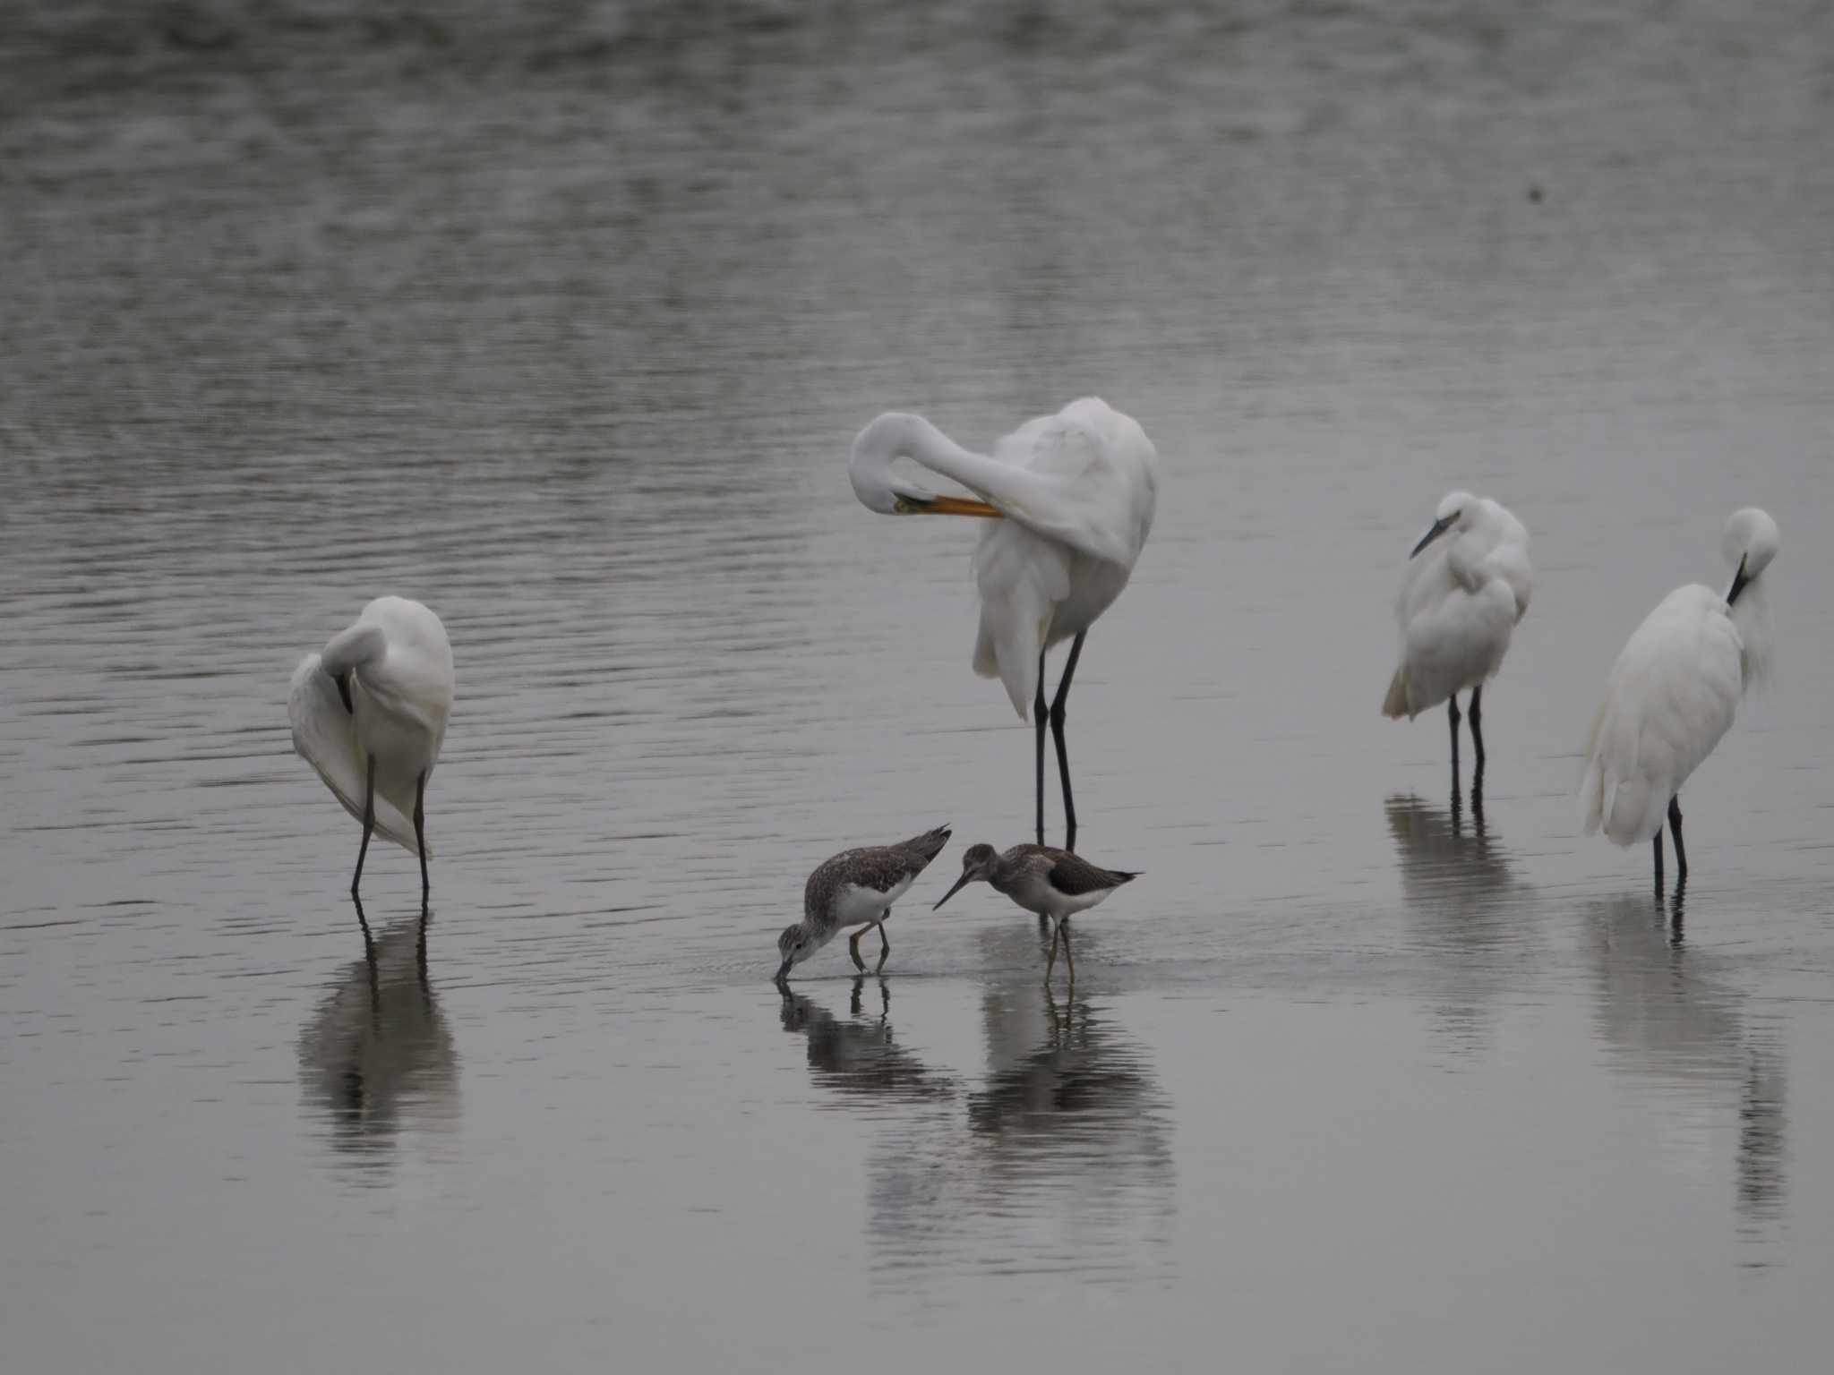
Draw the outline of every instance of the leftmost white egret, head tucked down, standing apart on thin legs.
<instances>
[{"instance_id":1,"label":"leftmost white egret, head tucked down, standing apart on thin legs","mask_svg":"<svg viewBox=\"0 0 1834 1375\"><path fill-rule=\"evenodd\" d=\"M420 856L427 880L427 777L453 710L453 651L440 618L407 598L376 598L356 622L293 669L286 715L293 748L363 823L350 896L361 917L363 856L380 830ZM413 818L409 821L409 816Z\"/></svg>"}]
</instances>

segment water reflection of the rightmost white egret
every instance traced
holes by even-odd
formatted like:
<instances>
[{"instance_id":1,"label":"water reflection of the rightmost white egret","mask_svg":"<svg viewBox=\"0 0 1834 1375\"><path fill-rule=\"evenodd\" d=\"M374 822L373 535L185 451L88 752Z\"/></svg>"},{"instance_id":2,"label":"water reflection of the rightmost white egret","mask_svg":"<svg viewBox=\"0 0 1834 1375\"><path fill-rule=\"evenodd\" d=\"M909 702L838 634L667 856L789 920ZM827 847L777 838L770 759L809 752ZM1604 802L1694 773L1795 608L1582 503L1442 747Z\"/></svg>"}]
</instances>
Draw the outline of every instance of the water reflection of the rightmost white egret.
<instances>
[{"instance_id":1,"label":"water reflection of the rightmost white egret","mask_svg":"<svg viewBox=\"0 0 1834 1375\"><path fill-rule=\"evenodd\" d=\"M1649 898L1592 906L1594 1027L1610 1063L1665 1109L1665 1157L1704 1162L1737 1120L1739 1234L1766 1243L1788 1182L1783 1050L1768 1030L1746 1025L1742 994L1709 977L1709 957L1682 942L1682 896L1678 886L1673 908Z\"/></svg>"}]
</instances>

